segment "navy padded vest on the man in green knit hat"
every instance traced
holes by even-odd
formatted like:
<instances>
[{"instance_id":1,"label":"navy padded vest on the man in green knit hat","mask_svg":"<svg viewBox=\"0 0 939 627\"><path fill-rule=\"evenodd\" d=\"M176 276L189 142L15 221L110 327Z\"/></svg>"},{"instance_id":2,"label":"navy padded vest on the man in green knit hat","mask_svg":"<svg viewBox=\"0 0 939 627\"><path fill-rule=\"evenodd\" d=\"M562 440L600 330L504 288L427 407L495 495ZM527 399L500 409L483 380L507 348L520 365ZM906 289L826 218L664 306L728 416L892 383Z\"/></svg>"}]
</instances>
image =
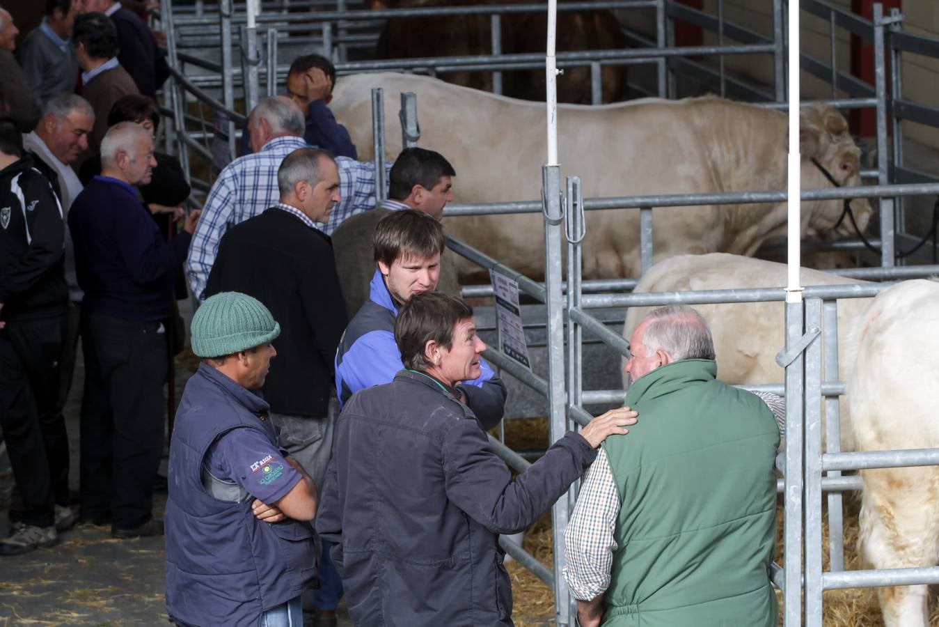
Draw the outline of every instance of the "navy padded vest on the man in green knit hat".
<instances>
[{"instance_id":1,"label":"navy padded vest on the man in green knit hat","mask_svg":"<svg viewBox=\"0 0 939 627\"><path fill-rule=\"evenodd\" d=\"M166 501L166 610L179 622L257 625L262 612L300 595L316 576L308 523L262 523L250 494L210 496L202 484L209 445L225 431L261 431L276 446L268 403L202 364L186 384L170 446Z\"/></svg>"}]
</instances>

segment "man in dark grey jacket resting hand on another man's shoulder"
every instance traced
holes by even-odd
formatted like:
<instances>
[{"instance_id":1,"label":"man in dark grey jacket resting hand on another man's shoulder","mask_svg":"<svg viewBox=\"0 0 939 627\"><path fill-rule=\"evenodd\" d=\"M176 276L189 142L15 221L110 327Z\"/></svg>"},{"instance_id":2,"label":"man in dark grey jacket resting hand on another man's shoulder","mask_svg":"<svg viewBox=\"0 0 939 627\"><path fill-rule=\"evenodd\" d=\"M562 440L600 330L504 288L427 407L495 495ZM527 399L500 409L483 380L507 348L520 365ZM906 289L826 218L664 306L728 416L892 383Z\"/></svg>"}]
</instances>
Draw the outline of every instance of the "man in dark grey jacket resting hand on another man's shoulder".
<instances>
[{"instance_id":1,"label":"man in dark grey jacket resting hand on another man's shoulder","mask_svg":"<svg viewBox=\"0 0 939 627\"><path fill-rule=\"evenodd\" d=\"M359 627L512 625L498 534L534 523L636 414L593 419L513 479L454 389L480 375L472 309L414 295L394 338L406 369L346 402L316 519L337 543L349 615Z\"/></svg>"}]
</instances>

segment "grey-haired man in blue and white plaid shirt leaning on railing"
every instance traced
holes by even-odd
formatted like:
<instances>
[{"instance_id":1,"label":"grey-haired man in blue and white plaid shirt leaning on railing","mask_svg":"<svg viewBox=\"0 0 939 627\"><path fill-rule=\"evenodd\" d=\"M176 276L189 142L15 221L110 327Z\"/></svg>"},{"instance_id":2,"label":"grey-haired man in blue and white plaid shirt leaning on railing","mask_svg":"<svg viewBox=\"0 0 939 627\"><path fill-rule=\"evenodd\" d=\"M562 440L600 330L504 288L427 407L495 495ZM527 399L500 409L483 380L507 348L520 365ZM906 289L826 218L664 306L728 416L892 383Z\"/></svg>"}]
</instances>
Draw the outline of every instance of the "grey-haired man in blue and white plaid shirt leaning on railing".
<instances>
[{"instance_id":1,"label":"grey-haired man in blue and white plaid shirt leaning on railing","mask_svg":"<svg viewBox=\"0 0 939 627\"><path fill-rule=\"evenodd\" d=\"M186 274L200 302L205 299L208 274L225 230L277 204L277 169L285 156L307 148L303 140L305 124L300 107L285 96L261 99L251 112L248 135L254 153L239 157L223 169L212 185L192 236ZM342 200L323 228L327 235L347 217L376 205L375 164L336 157L336 165ZM391 166L386 167L390 170Z\"/></svg>"}]
</instances>

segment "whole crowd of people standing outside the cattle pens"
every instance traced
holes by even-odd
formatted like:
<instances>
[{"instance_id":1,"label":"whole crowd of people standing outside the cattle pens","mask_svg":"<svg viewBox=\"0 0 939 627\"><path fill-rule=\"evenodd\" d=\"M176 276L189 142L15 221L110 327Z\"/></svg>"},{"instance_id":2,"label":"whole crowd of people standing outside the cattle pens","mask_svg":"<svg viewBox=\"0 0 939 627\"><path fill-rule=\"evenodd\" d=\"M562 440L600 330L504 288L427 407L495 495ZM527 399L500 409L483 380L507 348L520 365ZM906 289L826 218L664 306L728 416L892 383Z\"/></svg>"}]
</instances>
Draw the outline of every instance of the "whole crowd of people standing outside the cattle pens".
<instances>
[{"instance_id":1,"label":"whole crowd of people standing outside the cattle pens","mask_svg":"<svg viewBox=\"0 0 939 627\"><path fill-rule=\"evenodd\" d=\"M405 149L377 205L375 164L327 106L335 69L304 55L186 212L185 173L155 145L160 34L115 0L48 0L18 60L17 34L0 8L0 427L17 484L0 555L75 522L63 408L80 337L78 520L117 539L164 533L163 386L192 293L202 363L172 432L165 517L177 624L300 624L313 607L334 625L345 583L356 624L511 625L498 534L588 467L564 572L581 624L775 621L776 423L716 382L693 310L654 312L632 338L626 401L649 426L598 454L636 423L613 410L512 478L485 438L506 387L454 298L443 155ZM469 596L475 581L492 585Z\"/></svg>"}]
</instances>

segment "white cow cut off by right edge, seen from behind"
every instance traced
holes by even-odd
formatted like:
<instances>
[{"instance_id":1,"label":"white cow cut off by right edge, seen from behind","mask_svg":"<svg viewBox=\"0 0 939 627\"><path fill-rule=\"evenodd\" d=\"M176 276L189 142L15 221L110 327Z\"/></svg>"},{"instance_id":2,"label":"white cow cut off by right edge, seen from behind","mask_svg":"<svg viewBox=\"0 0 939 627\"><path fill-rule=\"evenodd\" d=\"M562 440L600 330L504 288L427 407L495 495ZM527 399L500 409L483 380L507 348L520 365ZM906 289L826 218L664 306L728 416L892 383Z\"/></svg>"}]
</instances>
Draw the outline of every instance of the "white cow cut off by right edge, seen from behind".
<instances>
[{"instance_id":1,"label":"white cow cut off by right edge, seen from behind","mask_svg":"<svg viewBox=\"0 0 939 627\"><path fill-rule=\"evenodd\" d=\"M848 381L858 450L939 447L939 284L904 281L874 299L857 325ZM861 472L858 551L873 568L939 562L939 467ZM926 627L926 586L877 588L886 627Z\"/></svg>"}]
</instances>

